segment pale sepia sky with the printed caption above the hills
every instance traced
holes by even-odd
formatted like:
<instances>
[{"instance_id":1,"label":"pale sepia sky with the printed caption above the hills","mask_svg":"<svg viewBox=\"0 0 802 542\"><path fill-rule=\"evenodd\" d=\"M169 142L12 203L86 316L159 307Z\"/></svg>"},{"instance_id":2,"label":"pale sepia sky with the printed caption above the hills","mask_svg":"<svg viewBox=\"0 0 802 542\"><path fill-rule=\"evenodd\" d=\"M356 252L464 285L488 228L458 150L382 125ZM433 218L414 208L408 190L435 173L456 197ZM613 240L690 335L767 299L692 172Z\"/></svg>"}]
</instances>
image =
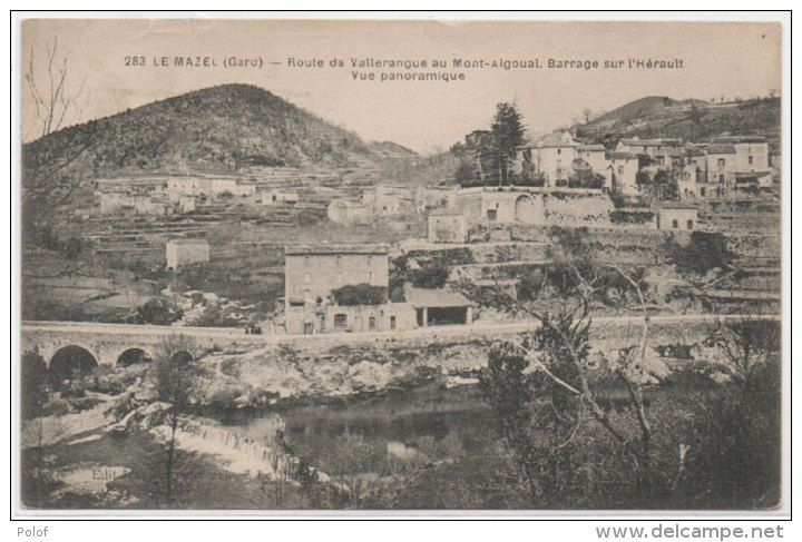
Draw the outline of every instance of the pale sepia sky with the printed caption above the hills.
<instances>
[{"instance_id":1,"label":"pale sepia sky with the printed caption above the hills","mask_svg":"<svg viewBox=\"0 0 802 542\"><path fill-rule=\"evenodd\" d=\"M364 140L390 140L418 152L448 149L488 128L500 101L518 106L534 137L578 120L584 109L598 114L645 96L750 98L779 95L781 88L781 28L770 22L29 19L21 39L21 73L32 58L41 93L49 89L46 50L53 40L55 66L67 61L66 96L81 89L62 127L239 82L267 89ZM177 67L176 57L208 57L217 66ZM157 66L163 58L168 66ZM224 66L231 58L261 66ZM352 59L365 58L429 66L352 67ZM313 67L292 67L291 59ZM537 59L541 67L464 69L454 68L454 59ZM549 68L548 59L600 67ZM628 59L677 59L682 68L603 68L605 60L627 66ZM338 60L343 66L332 67ZM433 60L446 67L433 68ZM375 80L360 79L371 72ZM399 72L464 79L380 80ZM21 134L29 141L39 136L38 118L25 77L21 85Z\"/></svg>"}]
</instances>

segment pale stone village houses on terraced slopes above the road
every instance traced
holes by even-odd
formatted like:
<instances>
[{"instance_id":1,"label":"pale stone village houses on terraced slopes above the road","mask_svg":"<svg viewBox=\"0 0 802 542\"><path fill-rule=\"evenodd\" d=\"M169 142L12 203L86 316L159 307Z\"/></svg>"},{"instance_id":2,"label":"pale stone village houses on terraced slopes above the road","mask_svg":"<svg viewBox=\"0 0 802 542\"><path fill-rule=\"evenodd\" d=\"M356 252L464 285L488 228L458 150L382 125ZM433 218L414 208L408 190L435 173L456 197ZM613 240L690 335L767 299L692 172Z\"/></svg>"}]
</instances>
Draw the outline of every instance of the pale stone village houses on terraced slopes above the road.
<instances>
[{"instance_id":1,"label":"pale stone village houses on terraced slopes above the road","mask_svg":"<svg viewBox=\"0 0 802 542\"><path fill-rule=\"evenodd\" d=\"M477 130L466 140L487 137L488 132ZM707 142L634 137L607 149L558 131L519 147L511 164L515 180L503 186L387 181L383 170L371 164L344 174L323 168L253 168L228 176L99 178L91 184L88 203L74 216L85 225L130 220L126 230L90 234L94 250L108 257L140 255L174 276L216 258L237 258L238 250L266 246L283 254L283 262L281 254L273 258L272 268L284 283L273 306L248 316L252 304L234 303L228 307L233 318L202 325L280 334L403 331L492 321L475 311L461 293L466 280L515 289L520 279L516 273L548 262L549 228L589 228L591 240L628 238L646 244L666 236L687 243L693 231L771 235L771 229L754 227L771 220L779 160L763 137L717 137ZM747 214L754 220L744 229L739 226L744 216L734 218L733 214L739 205L763 208L763 215ZM264 234L257 242L258 230L254 230L227 247L208 238L209 228L243 218L277 228L329 223L340 228L340 235L317 243L315 235L282 243L267 240ZM350 231L360 228L378 230L368 235L372 243L349 243ZM503 260L481 255L482 247L499 244L516 247L518 256ZM417 254L412 270L420 272L432 255L459 248L472 256L451 262L448 278L437 287L414 286L409 273L398 288L390 287L391 278L399 282L392 260ZM646 264L651 257L622 262ZM742 259L749 260L750 254ZM759 258L752 265L764 275L776 262ZM501 283L496 272L506 272ZM178 311L189 314L203 313L208 299L217 304L224 296L194 289L178 293L183 295L176 297L173 292L169 297L178 300ZM198 296L202 307L190 300L197 302ZM192 322L183 318L174 325Z\"/></svg>"}]
</instances>

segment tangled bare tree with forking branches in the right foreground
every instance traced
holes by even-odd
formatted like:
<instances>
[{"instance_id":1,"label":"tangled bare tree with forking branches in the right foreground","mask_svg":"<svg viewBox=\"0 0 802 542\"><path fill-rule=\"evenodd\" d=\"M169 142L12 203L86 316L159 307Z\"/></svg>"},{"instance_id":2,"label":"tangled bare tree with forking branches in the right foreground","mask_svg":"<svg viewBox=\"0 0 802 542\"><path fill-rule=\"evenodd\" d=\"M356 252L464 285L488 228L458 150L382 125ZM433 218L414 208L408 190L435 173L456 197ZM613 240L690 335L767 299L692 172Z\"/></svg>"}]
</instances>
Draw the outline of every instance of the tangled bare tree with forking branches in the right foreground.
<instances>
[{"instance_id":1,"label":"tangled bare tree with forking branches in the right foreground","mask_svg":"<svg viewBox=\"0 0 802 542\"><path fill-rule=\"evenodd\" d=\"M586 418L598 423L618 443L624 452L622 459L632 465L630 472L640 489L667 495L683 475L687 446L685 443L678 444L674 469L656 465L654 430L644 400L651 303L643 274L615 264L600 264L597 255L581 243L581 235L575 230L556 234L551 235L549 254L555 265L546 273L539 288L537 282L535 286L529 285L528 299L495 288L490 290L489 297L488 292L483 298L475 293L472 295L482 304L535 318L540 324L530 336L505 341L496 363L491 355L490 378L483 385L486 394L497 416L501 414L500 425L507 430L506 440L512 444L534 497L548 494L542 487L542 467L539 465L544 461L554 462L558 451L574 441ZM620 287L622 282L628 285L628 297L642 314L639 339L635 344L622 344L614 352L615 355L606 361L606 371L623 383L628 395L628 406L634 414L623 418L612 416L608 407L599 400L594 390L588 359L590 304L610 285ZM557 294L556 300L542 299L547 289ZM537 380L532 381L531 375L537 375ZM546 403L542 403L541 392L531 391L530 386L536 382L540 386L550 383L547 387L551 392ZM520 393L516 394L515 390ZM516 396L522 398L516 403ZM538 401L542 410L530 416L527 410L531 408L532 402ZM552 441L546 445L537 443L537 438L541 438L538 435L544 432L544 413L554 420L549 425ZM534 432L532 424L536 424ZM551 469L560 473L567 470ZM559 489L555 491L559 493Z\"/></svg>"}]
</instances>

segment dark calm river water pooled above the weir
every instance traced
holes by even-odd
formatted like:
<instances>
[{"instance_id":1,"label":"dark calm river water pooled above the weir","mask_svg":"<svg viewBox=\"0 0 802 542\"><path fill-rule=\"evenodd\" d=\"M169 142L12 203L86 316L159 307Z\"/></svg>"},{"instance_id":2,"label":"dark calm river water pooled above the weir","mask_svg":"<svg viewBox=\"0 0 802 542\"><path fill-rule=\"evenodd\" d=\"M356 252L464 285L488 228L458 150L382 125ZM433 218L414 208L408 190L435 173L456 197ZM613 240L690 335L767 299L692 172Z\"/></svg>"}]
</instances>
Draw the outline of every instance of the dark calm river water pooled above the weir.
<instances>
[{"instance_id":1,"label":"dark calm river water pooled above the weir","mask_svg":"<svg viewBox=\"0 0 802 542\"><path fill-rule=\"evenodd\" d=\"M293 453L322 469L342 452L348 437L369 449L375 456L373 463L418 449L439 460L481 455L495 440L488 405L475 385L444 388L431 384L372 397L228 414L222 422L236 433L267 443L275 430L274 414L284 421L285 442Z\"/></svg>"}]
</instances>

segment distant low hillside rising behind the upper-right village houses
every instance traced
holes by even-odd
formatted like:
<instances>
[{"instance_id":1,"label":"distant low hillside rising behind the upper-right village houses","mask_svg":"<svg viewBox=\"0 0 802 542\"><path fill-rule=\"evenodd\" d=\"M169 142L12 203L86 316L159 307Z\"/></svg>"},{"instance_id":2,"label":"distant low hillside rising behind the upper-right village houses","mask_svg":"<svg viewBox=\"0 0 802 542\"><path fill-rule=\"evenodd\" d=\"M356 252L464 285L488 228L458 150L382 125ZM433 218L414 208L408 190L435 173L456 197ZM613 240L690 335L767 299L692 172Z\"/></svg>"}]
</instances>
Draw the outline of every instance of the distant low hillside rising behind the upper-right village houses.
<instances>
[{"instance_id":1,"label":"distant low hillside rising behind the upper-right village houses","mask_svg":"<svg viewBox=\"0 0 802 542\"><path fill-rule=\"evenodd\" d=\"M723 135L764 136L779 148L780 98L711 104L651 96L573 127L578 137L614 146L623 137L681 137L706 141Z\"/></svg>"}]
</instances>

